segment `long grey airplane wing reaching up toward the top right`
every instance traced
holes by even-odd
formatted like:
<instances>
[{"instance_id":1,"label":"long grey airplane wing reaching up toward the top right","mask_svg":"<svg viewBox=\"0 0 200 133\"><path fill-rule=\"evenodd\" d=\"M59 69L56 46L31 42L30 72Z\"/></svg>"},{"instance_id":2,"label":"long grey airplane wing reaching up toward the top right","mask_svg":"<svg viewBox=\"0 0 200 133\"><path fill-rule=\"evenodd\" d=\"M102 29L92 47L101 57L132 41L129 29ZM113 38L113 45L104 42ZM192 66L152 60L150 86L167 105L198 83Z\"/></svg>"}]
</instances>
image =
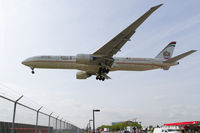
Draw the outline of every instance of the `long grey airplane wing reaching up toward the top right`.
<instances>
[{"instance_id":1,"label":"long grey airplane wing reaching up toward the top right","mask_svg":"<svg viewBox=\"0 0 200 133\"><path fill-rule=\"evenodd\" d=\"M135 22L129 25L126 29L120 32L112 40L106 43L103 47L98 49L93 55L96 56L107 56L112 57L115 55L124 44L130 40L131 36L135 33L135 30L160 6L163 4L157 5L149 9L145 14L138 18Z\"/></svg>"}]
</instances>

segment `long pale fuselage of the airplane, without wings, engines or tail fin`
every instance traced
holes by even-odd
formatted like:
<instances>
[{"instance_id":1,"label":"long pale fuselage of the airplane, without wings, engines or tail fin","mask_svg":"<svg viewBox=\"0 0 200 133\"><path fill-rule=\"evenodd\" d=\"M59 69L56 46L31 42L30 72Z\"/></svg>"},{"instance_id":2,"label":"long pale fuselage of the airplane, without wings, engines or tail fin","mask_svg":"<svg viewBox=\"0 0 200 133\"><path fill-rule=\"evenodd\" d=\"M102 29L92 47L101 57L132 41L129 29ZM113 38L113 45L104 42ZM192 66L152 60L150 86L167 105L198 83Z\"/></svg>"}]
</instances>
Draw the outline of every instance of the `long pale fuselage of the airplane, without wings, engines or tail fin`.
<instances>
[{"instance_id":1,"label":"long pale fuselage of the airplane, without wings, engines or tail fin","mask_svg":"<svg viewBox=\"0 0 200 133\"><path fill-rule=\"evenodd\" d=\"M78 69L95 74L99 66L92 64L79 64L76 56L35 56L28 58L22 64L31 68L49 68L49 69ZM110 71L145 71L152 69L164 69L177 65L177 63L163 63L162 60L154 58L121 58L115 57Z\"/></svg>"}]
</instances>

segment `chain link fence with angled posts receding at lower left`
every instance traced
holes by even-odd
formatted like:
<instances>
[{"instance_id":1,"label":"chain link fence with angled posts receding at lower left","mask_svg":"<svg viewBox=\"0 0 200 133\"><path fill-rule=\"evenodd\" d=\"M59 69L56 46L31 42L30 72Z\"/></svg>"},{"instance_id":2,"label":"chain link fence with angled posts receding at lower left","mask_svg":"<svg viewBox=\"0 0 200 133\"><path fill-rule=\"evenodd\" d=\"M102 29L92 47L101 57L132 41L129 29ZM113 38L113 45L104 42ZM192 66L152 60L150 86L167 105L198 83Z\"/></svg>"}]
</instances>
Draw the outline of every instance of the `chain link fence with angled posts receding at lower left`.
<instances>
[{"instance_id":1,"label":"chain link fence with angled posts receding at lower left","mask_svg":"<svg viewBox=\"0 0 200 133\"><path fill-rule=\"evenodd\" d=\"M22 98L13 100L0 95L0 133L82 133L82 129L59 116L42 112L42 106L35 109L20 103Z\"/></svg>"}]
</instances>

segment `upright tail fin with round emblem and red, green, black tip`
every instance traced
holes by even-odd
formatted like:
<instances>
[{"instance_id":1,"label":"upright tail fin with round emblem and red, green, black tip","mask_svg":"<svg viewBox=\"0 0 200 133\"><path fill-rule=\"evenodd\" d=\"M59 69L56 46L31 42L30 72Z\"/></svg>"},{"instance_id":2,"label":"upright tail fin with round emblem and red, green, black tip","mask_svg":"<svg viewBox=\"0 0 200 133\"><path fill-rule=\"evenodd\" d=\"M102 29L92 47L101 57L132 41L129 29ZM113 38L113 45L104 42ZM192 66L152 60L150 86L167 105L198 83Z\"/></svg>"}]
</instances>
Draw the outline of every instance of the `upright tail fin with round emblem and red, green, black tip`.
<instances>
[{"instance_id":1,"label":"upright tail fin with round emblem and red, green, black tip","mask_svg":"<svg viewBox=\"0 0 200 133\"><path fill-rule=\"evenodd\" d=\"M155 58L168 60L172 57L176 42L169 43Z\"/></svg>"}]
</instances>

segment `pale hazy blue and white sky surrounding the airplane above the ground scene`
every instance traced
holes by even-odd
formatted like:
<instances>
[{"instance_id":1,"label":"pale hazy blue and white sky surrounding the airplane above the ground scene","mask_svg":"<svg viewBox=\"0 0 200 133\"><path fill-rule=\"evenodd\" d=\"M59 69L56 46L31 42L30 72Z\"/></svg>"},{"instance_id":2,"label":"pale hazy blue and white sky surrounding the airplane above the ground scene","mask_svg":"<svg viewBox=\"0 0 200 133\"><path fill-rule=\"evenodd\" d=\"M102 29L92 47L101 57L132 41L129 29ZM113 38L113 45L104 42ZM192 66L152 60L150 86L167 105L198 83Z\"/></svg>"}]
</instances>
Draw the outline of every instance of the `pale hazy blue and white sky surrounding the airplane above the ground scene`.
<instances>
[{"instance_id":1,"label":"pale hazy blue and white sky surrounding the airplane above the ground scene","mask_svg":"<svg viewBox=\"0 0 200 133\"><path fill-rule=\"evenodd\" d=\"M36 55L93 53L152 6L164 3L116 56L155 57L177 41L174 55L200 49L199 0L0 0L0 94L79 127L137 118L142 125L200 120L200 54L168 71L111 72L111 80L77 80L77 70L36 69L21 61ZM7 86L7 87L5 87ZM13 105L0 99L0 120ZM24 116L24 118L19 117ZM29 122L26 110L17 122ZM32 123L35 113L32 114Z\"/></svg>"}]
</instances>

